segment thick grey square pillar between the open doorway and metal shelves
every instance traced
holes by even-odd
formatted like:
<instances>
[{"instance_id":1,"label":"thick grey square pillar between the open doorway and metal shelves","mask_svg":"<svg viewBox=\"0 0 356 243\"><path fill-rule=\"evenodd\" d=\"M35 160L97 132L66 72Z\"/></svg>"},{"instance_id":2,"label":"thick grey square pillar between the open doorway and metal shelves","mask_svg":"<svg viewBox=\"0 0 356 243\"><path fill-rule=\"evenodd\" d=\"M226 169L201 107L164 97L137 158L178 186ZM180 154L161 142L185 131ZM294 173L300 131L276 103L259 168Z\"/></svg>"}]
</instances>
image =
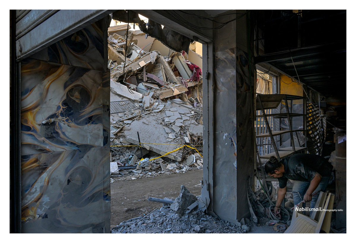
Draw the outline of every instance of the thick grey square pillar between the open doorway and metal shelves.
<instances>
[{"instance_id":1,"label":"thick grey square pillar between the open doorway and metal shelves","mask_svg":"<svg viewBox=\"0 0 356 243\"><path fill-rule=\"evenodd\" d=\"M208 158L204 164L208 171L204 171L202 190L202 200L205 201L204 188L209 188L208 211L232 223L250 217L246 181L248 176L253 176L255 157L256 74L251 64L252 39L248 42L248 33L251 32L248 32L246 15L233 20L236 16L241 16L241 13L216 17L219 22L231 22L213 32L214 81L209 80L204 92L210 93L213 89L214 107L208 101L208 109L213 114L214 131L208 130L205 139L213 141L214 153L204 150L204 159ZM210 119L205 121L211 122Z\"/></svg>"}]
</instances>

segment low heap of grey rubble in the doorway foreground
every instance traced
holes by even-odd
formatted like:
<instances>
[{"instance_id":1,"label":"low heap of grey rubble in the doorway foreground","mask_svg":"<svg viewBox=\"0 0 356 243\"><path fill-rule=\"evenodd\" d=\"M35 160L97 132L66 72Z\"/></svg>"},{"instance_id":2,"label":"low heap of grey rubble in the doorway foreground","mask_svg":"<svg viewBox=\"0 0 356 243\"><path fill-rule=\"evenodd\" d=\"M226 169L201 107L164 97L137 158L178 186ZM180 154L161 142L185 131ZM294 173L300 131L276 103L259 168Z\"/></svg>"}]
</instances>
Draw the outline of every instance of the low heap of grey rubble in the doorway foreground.
<instances>
[{"instance_id":1,"label":"low heap of grey rubble in the doorway foreground","mask_svg":"<svg viewBox=\"0 0 356 243\"><path fill-rule=\"evenodd\" d=\"M171 205L163 204L149 214L136 217L111 229L111 233L247 233L252 222L242 219L237 224L207 215L198 209L200 196L195 197L183 185ZM187 206L188 203L191 205ZM194 206L195 205L195 206ZM176 211L177 209L177 211Z\"/></svg>"}]
</instances>

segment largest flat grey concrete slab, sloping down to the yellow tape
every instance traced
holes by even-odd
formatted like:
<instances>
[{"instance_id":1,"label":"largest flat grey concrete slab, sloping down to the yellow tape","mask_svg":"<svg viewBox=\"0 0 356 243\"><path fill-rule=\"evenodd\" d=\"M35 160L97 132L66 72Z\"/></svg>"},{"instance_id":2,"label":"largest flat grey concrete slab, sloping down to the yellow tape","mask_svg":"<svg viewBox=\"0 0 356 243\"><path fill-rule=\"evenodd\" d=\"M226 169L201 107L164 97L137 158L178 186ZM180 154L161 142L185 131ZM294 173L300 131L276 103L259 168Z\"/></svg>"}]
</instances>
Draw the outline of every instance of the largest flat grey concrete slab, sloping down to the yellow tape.
<instances>
[{"instance_id":1,"label":"largest flat grey concrete slab, sloping down to the yellow tape","mask_svg":"<svg viewBox=\"0 0 356 243\"><path fill-rule=\"evenodd\" d=\"M125 132L126 140L128 142L139 145L137 138L137 132L139 132L141 143L143 143L142 146L147 150L151 150L156 152L157 154L164 155L179 148L179 145L161 145L167 143L167 135L164 131L164 126L156 123L155 116L145 116L145 121L149 123L149 125L143 123L142 120L133 121L131 123L131 129ZM155 139L154 143L156 144L144 144L152 143L152 138ZM165 157L177 161L182 161L182 155L181 153L179 153L179 150L168 154Z\"/></svg>"}]
</instances>

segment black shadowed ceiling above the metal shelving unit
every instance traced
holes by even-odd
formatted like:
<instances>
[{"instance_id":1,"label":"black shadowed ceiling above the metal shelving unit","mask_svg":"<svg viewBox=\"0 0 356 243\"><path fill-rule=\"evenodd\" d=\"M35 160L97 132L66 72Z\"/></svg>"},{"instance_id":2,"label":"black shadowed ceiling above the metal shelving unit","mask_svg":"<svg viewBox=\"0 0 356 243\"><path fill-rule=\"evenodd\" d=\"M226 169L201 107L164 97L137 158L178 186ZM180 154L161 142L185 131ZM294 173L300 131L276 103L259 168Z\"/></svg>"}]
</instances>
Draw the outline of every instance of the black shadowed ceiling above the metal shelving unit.
<instances>
[{"instance_id":1,"label":"black shadowed ceiling above the metal shelving unit","mask_svg":"<svg viewBox=\"0 0 356 243\"><path fill-rule=\"evenodd\" d=\"M254 16L255 64L346 100L346 10L263 10Z\"/></svg>"}]
</instances>

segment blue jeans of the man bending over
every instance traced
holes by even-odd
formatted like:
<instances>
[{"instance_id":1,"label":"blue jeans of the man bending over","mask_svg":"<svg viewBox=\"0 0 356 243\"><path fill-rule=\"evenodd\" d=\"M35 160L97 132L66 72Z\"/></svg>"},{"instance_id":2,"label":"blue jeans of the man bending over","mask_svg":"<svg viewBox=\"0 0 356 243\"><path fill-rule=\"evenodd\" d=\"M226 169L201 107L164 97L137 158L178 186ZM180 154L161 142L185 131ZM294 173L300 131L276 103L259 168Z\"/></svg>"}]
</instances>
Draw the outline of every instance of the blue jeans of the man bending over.
<instances>
[{"instance_id":1,"label":"blue jeans of the man bending over","mask_svg":"<svg viewBox=\"0 0 356 243\"><path fill-rule=\"evenodd\" d=\"M326 187L328 186L330 176L328 177L323 177L321 178L321 181L319 183L319 186L315 189L315 191L312 193L312 195L315 192L325 192ZM305 192L307 192L309 188L310 182L309 181L294 181L294 186L293 186L293 201L294 205L297 205L301 201L303 201L303 197ZM312 201L310 202L310 208L314 208L316 200L318 200L319 193L314 195L312 198Z\"/></svg>"}]
</instances>

